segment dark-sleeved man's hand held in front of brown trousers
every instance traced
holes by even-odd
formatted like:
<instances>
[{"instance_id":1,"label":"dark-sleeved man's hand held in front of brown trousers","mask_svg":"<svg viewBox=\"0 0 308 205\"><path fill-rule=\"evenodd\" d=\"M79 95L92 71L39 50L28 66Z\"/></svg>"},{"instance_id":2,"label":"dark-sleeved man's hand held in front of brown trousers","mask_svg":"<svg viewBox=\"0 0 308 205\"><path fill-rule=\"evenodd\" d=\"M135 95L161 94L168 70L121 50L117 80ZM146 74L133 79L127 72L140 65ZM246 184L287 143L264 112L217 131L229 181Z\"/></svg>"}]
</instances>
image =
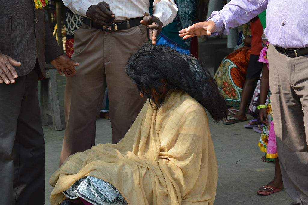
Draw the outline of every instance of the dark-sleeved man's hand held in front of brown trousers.
<instances>
[{"instance_id":1,"label":"dark-sleeved man's hand held in front of brown trousers","mask_svg":"<svg viewBox=\"0 0 308 205\"><path fill-rule=\"evenodd\" d=\"M62 75L63 72L66 77L76 75L77 71L74 66L79 65L79 63L64 54L51 61L51 64L58 70L59 75Z\"/></svg>"}]
</instances>

